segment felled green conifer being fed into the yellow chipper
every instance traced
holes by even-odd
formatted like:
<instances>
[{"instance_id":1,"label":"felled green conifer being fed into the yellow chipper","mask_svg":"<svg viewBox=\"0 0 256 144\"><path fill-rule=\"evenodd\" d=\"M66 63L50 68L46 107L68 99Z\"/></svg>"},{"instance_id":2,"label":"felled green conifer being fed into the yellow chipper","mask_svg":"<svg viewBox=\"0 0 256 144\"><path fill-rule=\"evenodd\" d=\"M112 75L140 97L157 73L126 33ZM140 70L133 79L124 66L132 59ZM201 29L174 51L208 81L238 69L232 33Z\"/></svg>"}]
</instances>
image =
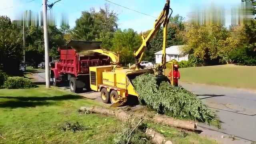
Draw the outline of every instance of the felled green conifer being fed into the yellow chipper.
<instances>
[{"instance_id":1,"label":"felled green conifer being fed into the yellow chipper","mask_svg":"<svg viewBox=\"0 0 256 144\"><path fill-rule=\"evenodd\" d=\"M174 118L185 118L198 122L216 120L216 115L208 109L194 94L161 82L153 74L143 74L132 80L135 91L147 106Z\"/></svg>"}]
</instances>

